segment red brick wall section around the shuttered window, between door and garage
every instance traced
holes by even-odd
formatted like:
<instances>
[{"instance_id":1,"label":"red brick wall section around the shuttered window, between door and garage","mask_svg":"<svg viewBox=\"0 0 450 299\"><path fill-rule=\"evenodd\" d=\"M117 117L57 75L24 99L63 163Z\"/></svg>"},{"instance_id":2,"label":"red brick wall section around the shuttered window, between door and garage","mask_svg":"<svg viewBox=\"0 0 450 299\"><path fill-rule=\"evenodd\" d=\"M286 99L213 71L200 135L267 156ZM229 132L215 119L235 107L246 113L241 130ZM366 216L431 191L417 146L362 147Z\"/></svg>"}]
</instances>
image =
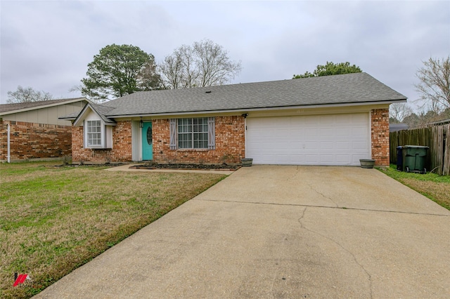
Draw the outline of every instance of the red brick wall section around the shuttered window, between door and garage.
<instances>
[{"instance_id":1,"label":"red brick wall section around the shuttered window, between door and garage","mask_svg":"<svg viewBox=\"0 0 450 299\"><path fill-rule=\"evenodd\" d=\"M155 119L153 161L158 163L240 163L245 157L245 121L241 116L215 117L216 150L170 150L169 119Z\"/></svg>"}]
</instances>

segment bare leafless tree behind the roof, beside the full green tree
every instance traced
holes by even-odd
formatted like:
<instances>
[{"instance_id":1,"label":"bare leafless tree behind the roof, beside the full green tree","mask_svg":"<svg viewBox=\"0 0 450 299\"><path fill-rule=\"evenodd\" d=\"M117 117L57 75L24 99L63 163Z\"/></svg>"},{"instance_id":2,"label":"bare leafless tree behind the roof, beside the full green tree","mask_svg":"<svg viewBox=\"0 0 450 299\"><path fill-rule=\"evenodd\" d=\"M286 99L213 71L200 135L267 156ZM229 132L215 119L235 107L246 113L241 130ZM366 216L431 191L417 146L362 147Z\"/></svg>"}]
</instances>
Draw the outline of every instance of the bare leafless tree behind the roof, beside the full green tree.
<instances>
[{"instance_id":1,"label":"bare leafless tree behind the roof, beside the full green tree","mask_svg":"<svg viewBox=\"0 0 450 299\"><path fill-rule=\"evenodd\" d=\"M165 88L191 88L226 84L240 73L222 46L209 39L176 48L160 65Z\"/></svg>"}]
</instances>

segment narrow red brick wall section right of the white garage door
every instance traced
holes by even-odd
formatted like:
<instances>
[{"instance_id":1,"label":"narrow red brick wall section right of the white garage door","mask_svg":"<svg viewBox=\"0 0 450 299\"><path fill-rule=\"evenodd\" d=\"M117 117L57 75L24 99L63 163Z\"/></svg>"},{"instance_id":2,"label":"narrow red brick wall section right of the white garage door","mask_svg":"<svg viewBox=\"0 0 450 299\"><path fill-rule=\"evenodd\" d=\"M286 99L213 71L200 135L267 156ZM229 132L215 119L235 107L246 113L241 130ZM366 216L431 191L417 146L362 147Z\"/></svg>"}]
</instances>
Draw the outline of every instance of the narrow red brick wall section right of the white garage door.
<instances>
[{"instance_id":1,"label":"narrow red brick wall section right of the white garage door","mask_svg":"<svg viewBox=\"0 0 450 299\"><path fill-rule=\"evenodd\" d=\"M389 166L389 108L371 111L372 159L377 166Z\"/></svg>"}]
</instances>

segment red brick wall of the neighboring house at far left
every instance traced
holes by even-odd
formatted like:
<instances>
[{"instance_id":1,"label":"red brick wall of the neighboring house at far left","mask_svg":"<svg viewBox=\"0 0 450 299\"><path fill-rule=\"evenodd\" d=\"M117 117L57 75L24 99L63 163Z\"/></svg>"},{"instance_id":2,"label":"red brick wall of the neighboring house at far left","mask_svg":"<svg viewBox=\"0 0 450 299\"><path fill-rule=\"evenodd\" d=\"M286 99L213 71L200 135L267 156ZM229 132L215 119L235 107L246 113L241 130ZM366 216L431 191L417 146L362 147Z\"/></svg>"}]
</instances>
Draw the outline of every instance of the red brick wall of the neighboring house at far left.
<instances>
[{"instance_id":1,"label":"red brick wall of the neighboring house at far left","mask_svg":"<svg viewBox=\"0 0 450 299\"><path fill-rule=\"evenodd\" d=\"M8 124L11 161L59 158L72 154L71 126L0 121L0 161L8 160Z\"/></svg>"}]
</instances>

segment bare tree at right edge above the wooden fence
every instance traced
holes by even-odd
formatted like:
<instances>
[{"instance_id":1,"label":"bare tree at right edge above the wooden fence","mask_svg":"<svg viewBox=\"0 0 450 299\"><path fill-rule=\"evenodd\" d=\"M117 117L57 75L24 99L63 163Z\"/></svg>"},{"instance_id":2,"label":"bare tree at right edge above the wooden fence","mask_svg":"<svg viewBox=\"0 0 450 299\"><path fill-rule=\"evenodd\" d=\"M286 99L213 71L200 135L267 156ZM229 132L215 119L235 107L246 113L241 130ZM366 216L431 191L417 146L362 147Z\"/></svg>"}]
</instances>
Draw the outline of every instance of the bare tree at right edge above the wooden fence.
<instances>
[{"instance_id":1,"label":"bare tree at right edge above the wooden fence","mask_svg":"<svg viewBox=\"0 0 450 299\"><path fill-rule=\"evenodd\" d=\"M421 99L436 113L450 108L450 55L442 60L430 58L423 65L416 72L420 83L415 85Z\"/></svg>"}]
</instances>

